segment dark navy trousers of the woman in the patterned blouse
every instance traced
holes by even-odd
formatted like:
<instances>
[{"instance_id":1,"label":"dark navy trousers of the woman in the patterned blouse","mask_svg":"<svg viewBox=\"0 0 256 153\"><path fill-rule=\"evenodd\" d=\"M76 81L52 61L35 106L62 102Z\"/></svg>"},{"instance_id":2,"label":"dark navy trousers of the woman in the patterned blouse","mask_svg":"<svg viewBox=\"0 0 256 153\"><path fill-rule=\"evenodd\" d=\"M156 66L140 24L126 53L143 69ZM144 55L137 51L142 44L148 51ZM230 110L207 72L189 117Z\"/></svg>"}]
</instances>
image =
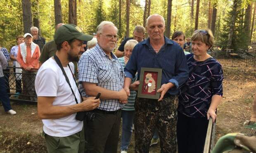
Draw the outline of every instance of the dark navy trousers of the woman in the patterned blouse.
<instances>
[{"instance_id":1,"label":"dark navy trousers of the woman in the patterned blouse","mask_svg":"<svg viewBox=\"0 0 256 153\"><path fill-rule=\"evenodd\" d=\"M178 153L203 153L209 121L192 118L178 112Z\"/></svg>"}]
</instances>

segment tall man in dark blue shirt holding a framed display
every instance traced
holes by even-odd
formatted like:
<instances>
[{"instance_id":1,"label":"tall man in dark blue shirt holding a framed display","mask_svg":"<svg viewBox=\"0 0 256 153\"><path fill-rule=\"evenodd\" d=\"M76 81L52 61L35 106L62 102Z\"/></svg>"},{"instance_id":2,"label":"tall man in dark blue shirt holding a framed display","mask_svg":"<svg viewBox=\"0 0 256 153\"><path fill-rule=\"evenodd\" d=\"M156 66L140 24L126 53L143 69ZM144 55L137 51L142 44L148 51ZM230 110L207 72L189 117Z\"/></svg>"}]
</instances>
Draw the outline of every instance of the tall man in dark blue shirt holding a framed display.
<instances>
[{"instance_id":1,"label":"tall man in dark blue shirt holding a framed display","mask_svg":"<svg viewBox=\"0 0 256 153\"><path fill-rule=\"evenodd\" d=\"M163 16L153 14L147 19L149 38L137 44L125 67L124 89L136 89L131 83L136 72L140 78L141 67L161 68L161 93L159 100L137 98L135 101L135 153L148 153L149 144L157 128L161 153L176 153L176 123L178 88L188 77L187 61L183 49L164 37Z\"/></svg>"}]
</instances>

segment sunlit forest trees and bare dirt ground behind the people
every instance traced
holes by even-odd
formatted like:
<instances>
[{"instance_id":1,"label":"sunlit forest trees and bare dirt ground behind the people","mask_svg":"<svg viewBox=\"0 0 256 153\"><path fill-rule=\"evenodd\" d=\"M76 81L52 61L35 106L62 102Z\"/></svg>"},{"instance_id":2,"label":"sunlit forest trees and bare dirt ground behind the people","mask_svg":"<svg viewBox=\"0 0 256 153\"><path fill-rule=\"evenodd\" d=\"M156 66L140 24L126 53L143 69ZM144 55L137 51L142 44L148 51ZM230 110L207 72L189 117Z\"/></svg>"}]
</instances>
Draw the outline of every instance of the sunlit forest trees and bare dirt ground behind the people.
<instances>
[{"instance_id":1,"label":"sunlit forest trees and bare dirt ground behind the people","mask_svg":"<svg viewBox=\"0 0 256 153\"><path fill-rule=\"evenodd\" d=\"M132 36L135 26L145 26L147 16L157 13L164 16L165 35L169 38L176 30L191 37L196 29L211 29L215 46L246 51L256 42L255 10L256 0L0 0L0 45L10 50L16 45L16 37L30 32L31 26L38 27L40 35L49 41L57 23L76 24L84 33L92 34L104 20L112 21L119 29L120 44L124 37ZM255 59L256 54L253 55ZM247 63L242 67L242 58L237 64L240 66L226 66L231 61L233 65L233 60L219 59L225 90L218 107L215 140L241 131L244 121L251 117L256 70L247 67ZM248 65L255 66L254 63ZM15 116L7 115L0 107L0 153L45 153L43 123L36 115L36 105L20 102L12 103L12 107L17 111ZM151 151L158 153L159 148L152 147ZM134 152L134 135L129 150Z\"/></svg>"}]
</instances>

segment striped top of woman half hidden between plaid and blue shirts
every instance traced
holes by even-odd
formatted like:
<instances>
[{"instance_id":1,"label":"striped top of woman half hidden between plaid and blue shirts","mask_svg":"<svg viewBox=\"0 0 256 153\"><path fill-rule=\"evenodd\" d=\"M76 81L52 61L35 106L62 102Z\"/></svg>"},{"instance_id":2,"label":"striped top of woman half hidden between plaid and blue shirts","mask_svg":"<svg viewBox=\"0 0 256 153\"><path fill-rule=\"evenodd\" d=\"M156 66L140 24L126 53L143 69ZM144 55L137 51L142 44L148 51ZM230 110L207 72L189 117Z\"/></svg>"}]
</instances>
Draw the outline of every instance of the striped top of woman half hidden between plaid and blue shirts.
<instances>
[{"instance_id":1,"label":"striped top of woman half hidden between plaid and blue shirts","mask_svg":"<svg viewBox=\"0 0 256 153\"><path fill-rule=\"evenodd\" d=\"M119 62L121 63L123 69L126 67L126 64L124 62L124 57L118 58ZM133 82L137 79L137 74L133 78ZM124 105L123 110L125 111L134 111L134 103L135 103L135 98L136 98L137 92L134 90L130 91L130 96L128 97L128 103Z\"/></svg>"}]
</instances>

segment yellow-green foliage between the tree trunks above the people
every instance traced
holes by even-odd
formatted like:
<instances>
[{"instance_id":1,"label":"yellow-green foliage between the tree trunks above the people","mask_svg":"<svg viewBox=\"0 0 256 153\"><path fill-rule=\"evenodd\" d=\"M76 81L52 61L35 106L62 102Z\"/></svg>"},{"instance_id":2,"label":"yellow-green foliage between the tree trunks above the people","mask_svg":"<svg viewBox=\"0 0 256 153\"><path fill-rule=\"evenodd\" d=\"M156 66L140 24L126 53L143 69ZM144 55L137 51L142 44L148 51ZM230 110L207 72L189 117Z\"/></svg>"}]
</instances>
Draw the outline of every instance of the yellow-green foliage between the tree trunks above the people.
<instances>
[{"instance_id":1,"label":"yellow-green foliage between the tree trunks above the people","mask_svg":"<svg viewBox=\"0 0 256 153\"><path fill-rule=\"evenodd\" d=\"M239 8L244 10L249 2L255 0L239 0ZM53 39L55 32L54 1L53 0L31 0L32 13L35 14L36 2L39 2L39 19L41 34L47 41ZM121 1L121 29L119 29L120 42L126 32L126 0ZM130 0L130 37L134 27L143 24L145 0ZM232 1L211 0L211 4L218 3L215 40L218 44L226 45L228 28L232 16ZM69 0L61 0L63 23L68 23ZM200 0L199 7L199 29L207 29L209 0ZM194 0L194 18L196 0ZM10 49L16 44L16 37L24 35L22 21L21 0L0 0L0 42L2 46ZM167 0L151 0L151 13L161 14L166 19ZM238 16L242 16L240 12ZM240 20L241 19L241 20ZM119 0L77 0L77 22L83 32L92 34L101 21L112 21L119 28ZM245 37L242 30L242 18L236 20L233 44L235 48L244 48ZM244 23L243 23L244 24ZM239 26L240 25L240 26ZM194 19L191 19L191 6L188 0L173 0L171 15L171 34L174 30L181 30L187 37L191 37L194 31ZM254 35L253 38L254 39ZM247 40L248 41L248 40Z\"/></svg>"}]
</instances>

